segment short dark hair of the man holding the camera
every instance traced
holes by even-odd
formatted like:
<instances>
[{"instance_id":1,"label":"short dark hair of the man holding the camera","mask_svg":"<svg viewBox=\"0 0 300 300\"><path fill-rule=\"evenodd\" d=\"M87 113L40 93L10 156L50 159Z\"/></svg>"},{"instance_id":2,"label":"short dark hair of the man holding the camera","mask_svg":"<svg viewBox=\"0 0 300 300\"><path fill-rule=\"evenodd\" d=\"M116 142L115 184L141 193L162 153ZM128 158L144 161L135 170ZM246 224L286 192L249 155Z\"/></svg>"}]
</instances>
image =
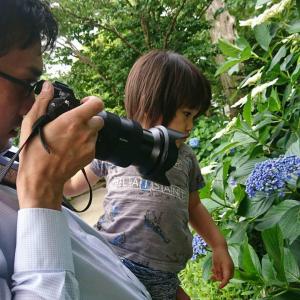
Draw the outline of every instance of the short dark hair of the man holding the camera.
<instances>
[{"instance_id":1,"label":"short dark hair of the man holding the camera","mask_svg":"<svg viewBox=\"0 0 300 300\"><path fill-rule=\"evenodd\" d=\"M43 51L54 46L58 26L48 3L40 0L0 0L0 56L43 41Z\"/></svg>"}]
</instances>

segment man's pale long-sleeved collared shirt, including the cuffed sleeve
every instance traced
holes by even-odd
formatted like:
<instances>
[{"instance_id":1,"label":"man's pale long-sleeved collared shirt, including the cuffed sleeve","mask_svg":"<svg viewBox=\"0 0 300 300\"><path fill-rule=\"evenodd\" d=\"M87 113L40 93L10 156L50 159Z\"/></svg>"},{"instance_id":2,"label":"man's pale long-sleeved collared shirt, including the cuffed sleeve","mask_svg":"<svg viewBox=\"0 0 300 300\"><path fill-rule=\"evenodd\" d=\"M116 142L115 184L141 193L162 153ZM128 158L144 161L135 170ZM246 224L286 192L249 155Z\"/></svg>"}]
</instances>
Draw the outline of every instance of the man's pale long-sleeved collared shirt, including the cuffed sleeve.
<instances>
[{"instance_id":1,"label":"man's pale long-sleeved collared shirt, including the cuffed sleeve","mask_svg":"<svg viewBox=\"0 0 300 300\"><path fill-rule=\"evenodd\" d=\"M0 185L0 299L151 297L77 215L67 209L18 211L15 191Z\"/></svg>"}]
</instances>

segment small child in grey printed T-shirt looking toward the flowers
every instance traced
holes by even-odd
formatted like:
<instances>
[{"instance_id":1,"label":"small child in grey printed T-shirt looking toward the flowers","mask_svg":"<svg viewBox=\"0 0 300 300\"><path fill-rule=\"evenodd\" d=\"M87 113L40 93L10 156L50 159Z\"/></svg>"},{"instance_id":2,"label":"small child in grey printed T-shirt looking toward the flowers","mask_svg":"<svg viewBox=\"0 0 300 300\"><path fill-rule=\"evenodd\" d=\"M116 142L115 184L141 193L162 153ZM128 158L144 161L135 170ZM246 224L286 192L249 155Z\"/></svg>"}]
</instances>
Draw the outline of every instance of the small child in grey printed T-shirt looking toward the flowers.
<instances>
[{"instance_id":1,"label":"small child in grey printed T-shirt looking toward the flowers","mask_svg":"<svg viewBox=\"0 0 300 300\"><path fill-rule=\"evenodd\" d=\"M210 84L200 71L183 56L163 50L136 61L125 89L128 118L144 128L161 124L187 135L210 99ZM203 178L197 159L183 140L177 146L178 160L167 172L171 186L141 178L134 166L94 160L86 167L92 184L100 176L107 181L105 212L97 229L157 300L189 299L177 277L192 256L188 222L212 248L213 279L221 281L220 288L233 274L226 241L199 199ZM86 189L78 173L66 184L65 193Z\"/></svg>"}]
</instances>

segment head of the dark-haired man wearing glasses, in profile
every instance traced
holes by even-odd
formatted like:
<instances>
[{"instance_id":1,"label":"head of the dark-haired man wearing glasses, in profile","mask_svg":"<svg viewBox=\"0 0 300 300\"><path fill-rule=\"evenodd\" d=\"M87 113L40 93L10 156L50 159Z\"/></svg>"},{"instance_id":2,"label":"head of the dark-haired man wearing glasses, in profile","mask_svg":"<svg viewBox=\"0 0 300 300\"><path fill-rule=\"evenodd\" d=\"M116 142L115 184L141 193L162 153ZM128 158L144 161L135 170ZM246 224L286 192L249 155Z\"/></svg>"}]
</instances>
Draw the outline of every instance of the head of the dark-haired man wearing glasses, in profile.
<instances>
[{"instance_id":1,"label":"head of the dark-haired man wearing glasses, in profile","mask_svg":"<svg viewBox=\"0 0 300 300\"><path fill-rule=\"evenodd\" d=\"M58 28L39 0L0 0L0 151L16 135L34 101L30 84L42 73L42 51L52 48Z\"/></svg>"}]
</instances>

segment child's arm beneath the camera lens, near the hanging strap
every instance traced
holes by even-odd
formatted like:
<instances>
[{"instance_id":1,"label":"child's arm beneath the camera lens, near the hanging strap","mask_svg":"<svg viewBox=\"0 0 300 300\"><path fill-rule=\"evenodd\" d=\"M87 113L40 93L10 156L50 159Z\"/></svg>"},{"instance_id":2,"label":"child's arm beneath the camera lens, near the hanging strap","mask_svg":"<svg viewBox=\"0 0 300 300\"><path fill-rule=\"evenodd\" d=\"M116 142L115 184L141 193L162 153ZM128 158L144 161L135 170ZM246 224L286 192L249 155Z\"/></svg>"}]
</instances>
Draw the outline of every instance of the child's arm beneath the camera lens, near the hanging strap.
<instances>
[{"instance_id":1,"label":"child's arm beneath the camera lens, near the hanging strap","mask_svg":"<svg viewBox=\"0 0 300 300\"><path fill-rule=\"evenodd\" d=\"M90 165L84 168L87 178L91 186L95 185L99 177L91 170ZM64 195L65 196L76 196L88 191L88 183L82 173L78 171L73 177L71 177L64 185Z\"/></svg>"}]
</instances>

